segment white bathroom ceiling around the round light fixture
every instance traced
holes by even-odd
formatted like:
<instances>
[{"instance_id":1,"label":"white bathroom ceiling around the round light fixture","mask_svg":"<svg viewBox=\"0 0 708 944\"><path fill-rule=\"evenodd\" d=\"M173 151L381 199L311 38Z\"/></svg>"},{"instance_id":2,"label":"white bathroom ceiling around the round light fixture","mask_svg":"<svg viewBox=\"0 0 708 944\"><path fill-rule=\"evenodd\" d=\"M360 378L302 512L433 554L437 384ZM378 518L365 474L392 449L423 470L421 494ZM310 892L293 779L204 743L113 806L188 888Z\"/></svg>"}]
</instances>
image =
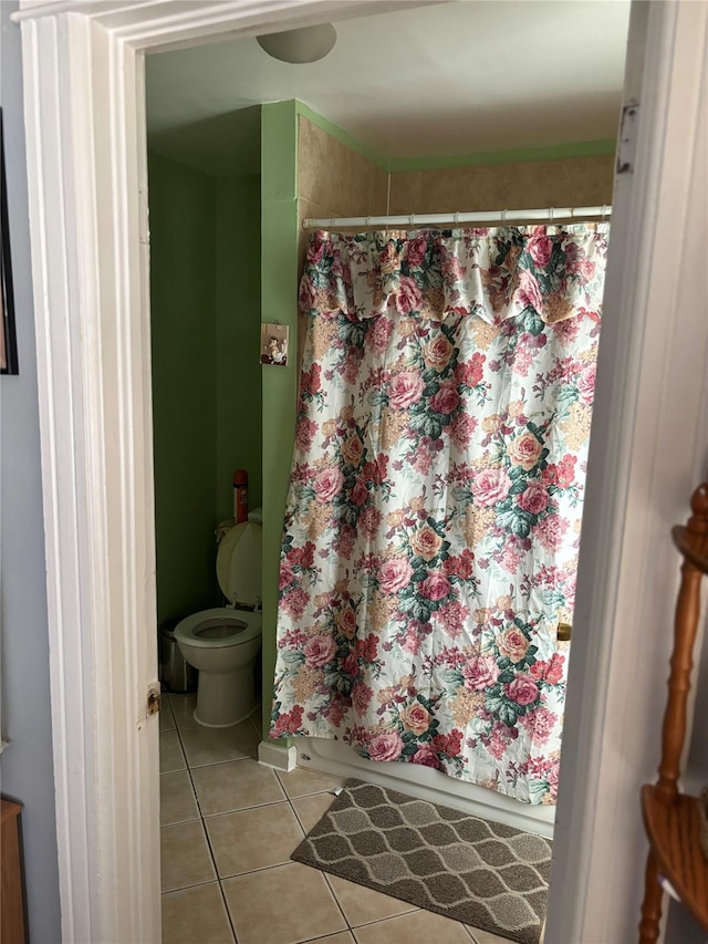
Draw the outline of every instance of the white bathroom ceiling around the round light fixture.
<instances>
[{"instance_id":1,"label":"white bathroom ceiling around the round light fixture","mask_svg":"<svg viewBox=\"0 0 708 944\"><path fill-rule=\"evenodd\" d=\"M218 176L259 169L258 110L299 98L379 155L612 138L628 0L452 0L336 22L291 65L253 37L147 59L149 146Z\"/></svg>"}]
</instances>

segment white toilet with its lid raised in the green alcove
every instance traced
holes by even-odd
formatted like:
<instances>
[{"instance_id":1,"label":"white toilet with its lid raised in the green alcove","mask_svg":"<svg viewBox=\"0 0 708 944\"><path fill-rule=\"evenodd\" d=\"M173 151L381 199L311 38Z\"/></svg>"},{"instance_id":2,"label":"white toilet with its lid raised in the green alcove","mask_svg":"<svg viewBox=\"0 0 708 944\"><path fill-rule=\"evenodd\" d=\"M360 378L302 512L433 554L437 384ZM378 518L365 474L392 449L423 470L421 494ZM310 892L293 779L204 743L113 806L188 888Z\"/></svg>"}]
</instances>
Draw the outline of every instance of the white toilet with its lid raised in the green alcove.
<instances>
[{"instance_id":1,"label":"white toilet with its lid raised in the green alcove","mask_svg":"<svg viewBox=\"0 0 708 944\"><path fill-rule=\"evenodd\" d=\"M199 670L194 717L206 727L229 727L256 707L253 668L261 649L260 514L223 530L217 577L227 606L201 610L175 626L189 665Z\"/></svg>"}]
</instances>

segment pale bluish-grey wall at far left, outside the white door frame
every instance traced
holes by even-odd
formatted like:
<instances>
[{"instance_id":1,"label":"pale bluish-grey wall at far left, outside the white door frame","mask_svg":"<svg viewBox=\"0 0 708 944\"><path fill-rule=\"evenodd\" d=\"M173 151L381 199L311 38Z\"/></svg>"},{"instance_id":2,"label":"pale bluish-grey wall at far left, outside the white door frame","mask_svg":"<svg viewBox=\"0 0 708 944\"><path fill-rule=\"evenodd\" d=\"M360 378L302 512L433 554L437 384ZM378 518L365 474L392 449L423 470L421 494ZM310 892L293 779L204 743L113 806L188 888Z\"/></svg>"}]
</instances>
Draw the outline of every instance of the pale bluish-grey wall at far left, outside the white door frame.
<instances>
[{"instance_id":1,"label":"pale bluish-grey wall at far left, outside the white door frame","mask_svg":"<svg viewBox=\"0 0 708 944\"><path fill-rule=\"evenodd\" d=\"M0 376L0 758L3 796L24 803L22 840L30 940L61 941L50 719L49 641L20 29L0 1L4 124L19 376Z\"/></svg>"}]
</instances>

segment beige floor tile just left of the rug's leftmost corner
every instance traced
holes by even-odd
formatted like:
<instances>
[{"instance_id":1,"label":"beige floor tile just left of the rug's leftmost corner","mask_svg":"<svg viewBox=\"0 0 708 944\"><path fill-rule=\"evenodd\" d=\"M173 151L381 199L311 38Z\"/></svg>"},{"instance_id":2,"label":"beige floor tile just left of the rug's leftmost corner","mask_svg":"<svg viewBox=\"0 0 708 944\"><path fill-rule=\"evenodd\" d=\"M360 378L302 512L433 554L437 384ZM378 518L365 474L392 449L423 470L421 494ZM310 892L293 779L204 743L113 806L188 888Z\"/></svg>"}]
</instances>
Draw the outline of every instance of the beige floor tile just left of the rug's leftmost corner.
<instances>
[{"instance_id":1,"label":"beige floor tile just left of the rug's leftmost corner","mask_svg":"<svg viewBox=\"0 0 708 944\"><path fill-rule=\"evenodd\" d=\"M290 803L208 817L205 826L220 879L288 862L303 838ZM278 898L278 888L272 895Z\"/></svg>"}]
</instances>

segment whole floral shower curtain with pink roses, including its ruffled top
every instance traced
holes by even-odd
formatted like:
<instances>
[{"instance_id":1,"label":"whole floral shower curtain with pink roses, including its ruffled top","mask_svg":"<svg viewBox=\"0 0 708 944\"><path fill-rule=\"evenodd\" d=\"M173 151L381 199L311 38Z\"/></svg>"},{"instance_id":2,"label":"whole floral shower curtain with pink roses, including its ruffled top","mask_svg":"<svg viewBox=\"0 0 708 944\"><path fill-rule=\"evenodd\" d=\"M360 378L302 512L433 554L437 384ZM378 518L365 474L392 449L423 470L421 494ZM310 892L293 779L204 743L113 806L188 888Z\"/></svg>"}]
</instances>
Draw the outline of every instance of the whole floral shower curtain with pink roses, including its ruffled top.
<instances>
[{"instance_id":1,"label":"whole floral shower curtain with pink roses, including its ruffled top","mask_svg":"<svg viewBox=\"0 0 708 944\"><path fill-rule=\"evenodd\" d=\"M607 231L313 236L271 737L555 802Z\"/></svg>"}]
</instances>

